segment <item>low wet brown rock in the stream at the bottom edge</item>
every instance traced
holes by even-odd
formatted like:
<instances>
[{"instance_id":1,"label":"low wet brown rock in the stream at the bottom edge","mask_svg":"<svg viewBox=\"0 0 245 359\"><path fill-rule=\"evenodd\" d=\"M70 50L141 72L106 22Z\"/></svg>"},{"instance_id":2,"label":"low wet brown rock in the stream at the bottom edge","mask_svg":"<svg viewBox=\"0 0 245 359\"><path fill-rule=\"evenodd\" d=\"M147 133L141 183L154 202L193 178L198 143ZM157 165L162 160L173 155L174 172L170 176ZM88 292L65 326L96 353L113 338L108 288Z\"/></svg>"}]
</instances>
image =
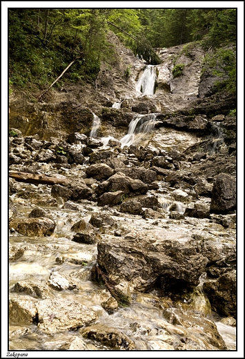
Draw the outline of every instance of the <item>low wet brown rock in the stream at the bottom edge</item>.
<instances>
[{"instance_id":1,"label":"low wet brown rock in the stream at the bottom edge","mask_svg":"<svg viewBox=\"0 0 245 359\"><path fill-rule=\"evenodd\" d=\"M79 331L84 338L97 340L109 347L119 350L133 350L135 343L126 334L113 327L102 324L94 324Z\"/></svg>"}]
</instances>

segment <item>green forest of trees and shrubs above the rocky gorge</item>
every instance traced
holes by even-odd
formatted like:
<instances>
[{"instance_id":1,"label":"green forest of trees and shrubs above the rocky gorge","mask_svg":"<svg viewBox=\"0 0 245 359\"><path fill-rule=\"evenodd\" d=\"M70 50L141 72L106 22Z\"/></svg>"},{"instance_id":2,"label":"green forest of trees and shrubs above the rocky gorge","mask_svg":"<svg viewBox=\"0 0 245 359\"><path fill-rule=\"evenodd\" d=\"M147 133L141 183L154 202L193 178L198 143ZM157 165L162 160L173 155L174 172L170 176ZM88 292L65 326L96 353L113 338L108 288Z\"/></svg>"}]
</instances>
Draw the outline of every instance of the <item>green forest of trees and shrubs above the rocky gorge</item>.
<instances>
[{"instance_id":1,"label":"green forest of trees and shrubs above the rocky gorge","mask_svg":"<svg viewBox=\"0 0 245 359\"><path fill-rule=\"evenodd\" d=\"M154 48L195 41L206 50L205 63L235 93L237 10L232 8L10 8L9 90L42 90L74 61L62 81L95 81L101 61L113 65L107 41L115 32L148 64L159 64ZM188 51L188 46L186 47Z\"/></svg>"}]
</instances>

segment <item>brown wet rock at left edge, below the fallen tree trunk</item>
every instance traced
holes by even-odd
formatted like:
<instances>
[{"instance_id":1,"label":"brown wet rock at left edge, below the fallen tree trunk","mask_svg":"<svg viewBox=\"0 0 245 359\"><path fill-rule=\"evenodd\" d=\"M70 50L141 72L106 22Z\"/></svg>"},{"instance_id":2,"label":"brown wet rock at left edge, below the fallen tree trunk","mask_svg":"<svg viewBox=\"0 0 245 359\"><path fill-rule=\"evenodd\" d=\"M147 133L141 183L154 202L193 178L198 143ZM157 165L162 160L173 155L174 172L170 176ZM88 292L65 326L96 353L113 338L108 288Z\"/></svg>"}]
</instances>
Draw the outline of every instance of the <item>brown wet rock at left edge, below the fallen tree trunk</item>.
<instances>
[{"instance_id":1,"label":"brown wet rock at left edge, below the fallen tree trunk","mask_svg":"<svg viewBox=\"0 0 245 359\"><path fill-rule=\"evenodd\" d=\"M55 222L46 217L15 218L10 226L22 235L43 237L55 231Z\"/></svg>"}]
</instances>

